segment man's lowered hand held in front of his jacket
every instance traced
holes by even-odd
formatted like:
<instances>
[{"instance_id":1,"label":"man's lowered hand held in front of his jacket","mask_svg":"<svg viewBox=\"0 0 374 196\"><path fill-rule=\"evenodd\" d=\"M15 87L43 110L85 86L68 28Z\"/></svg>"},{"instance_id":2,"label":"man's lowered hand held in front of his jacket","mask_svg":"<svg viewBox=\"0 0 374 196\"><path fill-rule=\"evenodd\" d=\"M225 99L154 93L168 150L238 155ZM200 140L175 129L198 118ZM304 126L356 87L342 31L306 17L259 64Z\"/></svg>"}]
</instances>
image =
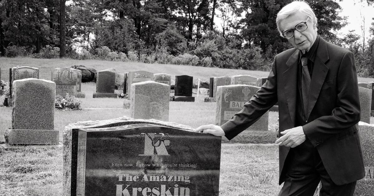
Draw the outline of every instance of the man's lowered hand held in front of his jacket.
<instances>
[{"instance_id":1,"label":"man's lowered hand held in front of his jacket","mask_svg":"<svg viewBox=\"0 0 374 196\"><path fill-rule=\"evenodd\" d=\"M275 141L275 144L294 148L306 140L303 127L301 126L284 130L281 132L281 134L283 136L277 139L277 141Z\"/></svg>"}]
</instances>

